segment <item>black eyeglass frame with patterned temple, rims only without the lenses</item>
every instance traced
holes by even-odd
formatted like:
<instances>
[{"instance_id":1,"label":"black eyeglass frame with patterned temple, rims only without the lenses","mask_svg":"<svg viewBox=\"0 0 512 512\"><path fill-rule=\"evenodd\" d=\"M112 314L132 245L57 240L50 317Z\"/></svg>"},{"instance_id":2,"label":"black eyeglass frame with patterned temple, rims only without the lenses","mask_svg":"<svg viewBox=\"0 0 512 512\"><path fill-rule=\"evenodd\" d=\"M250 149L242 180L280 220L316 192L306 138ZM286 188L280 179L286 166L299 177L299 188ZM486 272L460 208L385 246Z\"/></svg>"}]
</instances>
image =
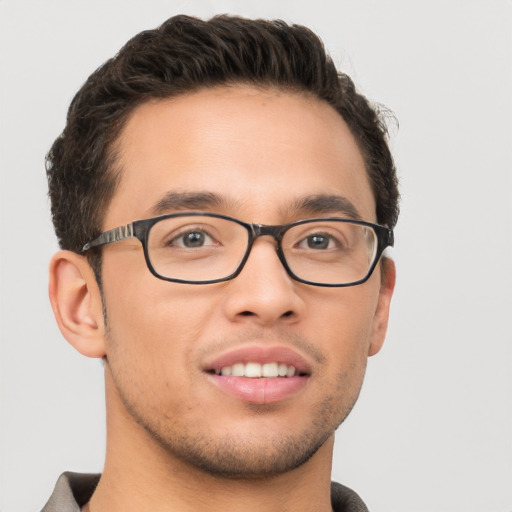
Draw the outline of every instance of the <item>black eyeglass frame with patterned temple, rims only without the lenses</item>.
<instances>
[{"instance_id":1,"label":"black eyeglass frame with patterned temple, rims only without the lenses","mask_svg":"<svg viewBox=\"0 0 512 512\"><path fill-rule=\"evenodd\" d=\"M223 277L220 279L211 279L211 280L203 280L203 281L188 281L186 279L177 279L172 277L165 277L156 272L156 270L153 268L153 265L151 263L151 259L149 257L149 250L148 250L148 237L149 232L151 228L157 224L158 222L169 219L169 218L175 218L175 217L214 217L218 219L224 219L229 220L232 222L235 222L236 224L239 224L240 226L243 226L247 230L248 234L248 241L247 241L247 249L245 251L245 254L243 258L241 259L240 263L238 264L238 267L236 270L230 274L227 277ZM373 232L376 235L377 238L377 250L375 252L375 257L373 263L370 265L370 268L366 275L357 281L352 281L350 283L342 283L342 284L336 284L336 283L317 283L315 281L308 281L306 279L302 279L299 276L297 276L291 268L288 266L288 262L286 261L286 257L284 255L283 248L281 246L281 241L284 237L284 234L291 228L295 226L299 226L301 224L308 224L313 222L322 222L322 221L336 221L336 222L346 222L351 224L358 224L360 226L367 226L373 230ZM119 226L114 229L110 229L108 231L105 231L101 233L97 238L94 240L91 240L87 244L85 244L82 247L82 253L85 253L89 251L90 249L96 248L96 247L102 247L104 245L112 244L115 242L120 242L121 240L125 240L127 238L137 238L140 243L142 244L142 248L144 251L144 259L146 260L146 265L149 269L149 271L158 279L162 279L164 281L170 281L173 283L184 283L184 284L213 284L213 283L221 283L224 281L230 281L231 279L234 279L240 272L242 271L243 267L245 266L245 263L247 262L247 259L249 258L249 255L252 250L252 246L257 238L260 236L271 236L274 238L274 240L277 242L276 252L279 257L279 260L281 261L281 264L285 268L285 270L288 272L288 275L294 279L295 281L298 281L300 283L309 284L313 286L323 286L328 288L342 288L346 286L356 286L358 284L362 284L366 282L370 276L372 275L373 271L375 270L375 267L377 266L377 263L379 262L382 253L384 252L384 249L387 247L393 247L394 245L394 234L393 230L391 228L388 228L387 226L382 226L380 224L374 224L372 222L367 222L364 220L355 220L355 219L346 219L346 218L340 218L340 217L319 217L319 218L312 218L312 219L302 219L295 222L291 222L289 224L281 224L281 225L265 225L265 224L251 224L247 222L243 222L241 220L235 219L233 217L229 217L227 215L222 215L220 213L211 213L211 212L178 212L178 213L171 213L166 215L159 215L157 217L151 217L149 219L142 219L142 220L136 220L133 222L130 222L129 224L126 224L124 226Z\"/></svg>"}]
</instances>

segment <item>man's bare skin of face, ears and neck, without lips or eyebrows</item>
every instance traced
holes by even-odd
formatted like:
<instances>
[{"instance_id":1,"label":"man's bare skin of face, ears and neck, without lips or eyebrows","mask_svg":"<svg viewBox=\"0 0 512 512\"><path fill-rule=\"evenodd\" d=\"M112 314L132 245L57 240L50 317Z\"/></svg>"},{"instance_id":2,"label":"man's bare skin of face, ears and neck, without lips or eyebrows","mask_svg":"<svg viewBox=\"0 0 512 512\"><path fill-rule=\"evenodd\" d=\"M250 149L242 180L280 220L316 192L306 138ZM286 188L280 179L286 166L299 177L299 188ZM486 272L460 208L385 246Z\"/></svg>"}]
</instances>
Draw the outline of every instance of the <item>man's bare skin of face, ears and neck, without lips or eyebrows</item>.
<instances>
[{"instance_id":1,"label":"man's bare skin of face, ears and neck, without lips or eyebrows","mask_svg":"<svg viewBox=\"0 0 512 512\"><path fill-rule=\"evenodd\" d=\"M292 207L298 198L339 195L375 222L354 138L306 95L238 86L152 101L118 148L104 230L164 213L155 205L169 192L214 193L221 204L192 209L262 224L315 216ZM105 360L107 456L90 510L331 510L334 431L384 341L393 263L362 285L314 287L292 280L263 237L236 279L192 286L155 278L135 239L103 251L106 325L85 258L61 251L50 267L62 332ZM234 398L204 371L231 350L274 346L310 367L285 400Z\"/></svg>"}]
</instances>

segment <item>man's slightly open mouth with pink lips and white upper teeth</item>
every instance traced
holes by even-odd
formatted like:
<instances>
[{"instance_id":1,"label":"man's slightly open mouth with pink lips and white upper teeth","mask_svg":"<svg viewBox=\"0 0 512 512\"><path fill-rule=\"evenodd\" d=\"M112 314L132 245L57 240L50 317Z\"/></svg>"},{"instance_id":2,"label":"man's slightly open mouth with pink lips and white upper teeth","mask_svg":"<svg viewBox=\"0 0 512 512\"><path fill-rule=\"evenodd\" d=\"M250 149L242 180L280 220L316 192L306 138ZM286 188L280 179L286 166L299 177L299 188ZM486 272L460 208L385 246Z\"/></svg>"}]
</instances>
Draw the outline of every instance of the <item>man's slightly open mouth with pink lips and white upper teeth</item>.
<instances>
[{"instance_id":1,"label":"man's slightly open mouth with pink lips and white upper teeth","mask_svg":"<svg viewBox=\"0 0 512 512\"><path fill-rule=\"evenodd\" d=\"M291 399L311 377L307 361L285 347L237 349L217 357L204 372L223 393L253 404Z\"/></svg>"}]
</instances>

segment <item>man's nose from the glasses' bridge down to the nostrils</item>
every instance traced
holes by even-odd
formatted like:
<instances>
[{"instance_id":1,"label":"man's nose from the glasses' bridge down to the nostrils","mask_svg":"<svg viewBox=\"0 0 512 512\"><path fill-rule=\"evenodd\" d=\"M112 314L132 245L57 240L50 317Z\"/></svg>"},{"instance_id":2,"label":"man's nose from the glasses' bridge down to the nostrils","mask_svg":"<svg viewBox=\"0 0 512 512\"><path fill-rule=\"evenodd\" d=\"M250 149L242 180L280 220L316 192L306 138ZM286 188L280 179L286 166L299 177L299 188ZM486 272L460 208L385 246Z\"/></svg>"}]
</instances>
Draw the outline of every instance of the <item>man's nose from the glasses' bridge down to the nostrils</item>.
<instances>
[{"instance_id":1,"label":"man's nose from the glasses' bridge down to the nostrils","mask_svg":"<svg viewBox=\"0 0 512 512\"><path fill-rule=\"evenodd\" d=\"M260 326L294 323L304 312L299 286L279 260L275 241L258 238L240 274L227 283L224 313L233 322Z\"/></svg>"}]
</instances>

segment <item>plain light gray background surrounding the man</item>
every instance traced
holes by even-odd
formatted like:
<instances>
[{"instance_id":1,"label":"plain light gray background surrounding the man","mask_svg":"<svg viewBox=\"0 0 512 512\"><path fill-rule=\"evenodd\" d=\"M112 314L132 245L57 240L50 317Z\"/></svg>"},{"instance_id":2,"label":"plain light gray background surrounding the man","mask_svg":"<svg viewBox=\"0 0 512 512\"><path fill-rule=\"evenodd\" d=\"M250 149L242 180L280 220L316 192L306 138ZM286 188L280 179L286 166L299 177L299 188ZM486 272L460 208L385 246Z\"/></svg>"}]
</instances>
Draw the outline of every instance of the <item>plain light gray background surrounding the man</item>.
<instances>
[{"instance_id":1,"label":"plain light gray background surrounding the man","mask_svg":"<svg viewBox=\"0 0 512 512\"><path fill-rule=\"evenodd\" d=\"M0 0L1 504L39 510L100 471L103 377L54 324L43 158L81 83L176 13L306 24L400 121L388 339L337 435L333 477L373 511L512 510L512 4Z\"/></svg>"}]
</instances>

